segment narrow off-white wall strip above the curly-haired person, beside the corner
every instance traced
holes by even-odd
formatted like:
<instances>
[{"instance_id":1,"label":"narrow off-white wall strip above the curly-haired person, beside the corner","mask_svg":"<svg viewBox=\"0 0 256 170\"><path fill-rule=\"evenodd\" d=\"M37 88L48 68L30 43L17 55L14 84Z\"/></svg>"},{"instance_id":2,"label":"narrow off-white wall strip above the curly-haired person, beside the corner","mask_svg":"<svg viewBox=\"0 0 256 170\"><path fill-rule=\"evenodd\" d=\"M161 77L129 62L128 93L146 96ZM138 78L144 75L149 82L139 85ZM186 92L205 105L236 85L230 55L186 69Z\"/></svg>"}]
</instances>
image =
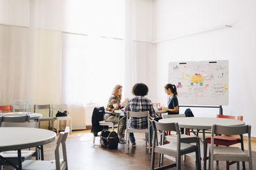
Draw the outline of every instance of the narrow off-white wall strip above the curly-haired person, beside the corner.
<instances>
[{"instance_id":1,"label":"narrow off-white wall strip above the curly-haired person, beside the corner","mask_svg":"<svg viewBox=\"0 0 256 170\"><path fill-rule=\"evenodd\" d=\"M134 83L148 86L148 99L154 96L153 1L136 0L133 6ZM131 90L130 90L131 93Z\"/></svg>"}]
</instances>

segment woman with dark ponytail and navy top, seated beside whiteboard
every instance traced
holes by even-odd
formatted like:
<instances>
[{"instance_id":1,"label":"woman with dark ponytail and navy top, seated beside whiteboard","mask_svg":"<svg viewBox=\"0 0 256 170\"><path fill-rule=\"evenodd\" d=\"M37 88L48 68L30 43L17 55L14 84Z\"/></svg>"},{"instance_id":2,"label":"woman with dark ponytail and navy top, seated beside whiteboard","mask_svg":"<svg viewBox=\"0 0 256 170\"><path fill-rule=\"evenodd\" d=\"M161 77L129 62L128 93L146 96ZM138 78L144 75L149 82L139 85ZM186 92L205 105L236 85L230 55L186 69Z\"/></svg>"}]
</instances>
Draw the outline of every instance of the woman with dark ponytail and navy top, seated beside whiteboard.
<instances>
[{"instance_id":1,"label":"woman with dark ponytail and navy top, seated beside whiteboard","mask_svg":"<svg viewBox=\"0 0 256 170\"><path fill-rule=\"evenodd\" d=\"M179 101L177 98L177 89L175 85L168 83L164 86L165 93L170 96L168 101L168 108L163 108L164 111L168 111L168 115L179 114Z\"/></svg>"}]
</instances>

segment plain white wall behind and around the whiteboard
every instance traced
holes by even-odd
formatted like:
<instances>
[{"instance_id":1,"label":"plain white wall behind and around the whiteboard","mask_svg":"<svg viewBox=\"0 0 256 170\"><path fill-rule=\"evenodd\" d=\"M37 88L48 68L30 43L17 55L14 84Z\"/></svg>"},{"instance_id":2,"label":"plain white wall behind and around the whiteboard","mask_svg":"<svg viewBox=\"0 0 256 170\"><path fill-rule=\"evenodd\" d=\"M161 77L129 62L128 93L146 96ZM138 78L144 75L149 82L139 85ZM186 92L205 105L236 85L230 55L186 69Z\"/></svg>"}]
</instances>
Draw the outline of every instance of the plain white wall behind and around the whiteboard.
<instances>
[{"instance_id":1,"label":"plain white wall behind and around the whiteboard","mask_svg":"<svg viewBox=\"0 0 256 170\"><path fill-rule=\"evenodd\" d=\"M168 62L229 60L229 104L223 106L223 114L243 115L244 122L252 125L252 136L256 136L253 130L256 128L253 88L256 83L256 1L155 0L154 3L155 41L232 25L230 29L156 43L155 100L166 103L164 85L168 80ZM218 114L217 109L192 110L197 117Z\"/></svg>"}]
</instances>

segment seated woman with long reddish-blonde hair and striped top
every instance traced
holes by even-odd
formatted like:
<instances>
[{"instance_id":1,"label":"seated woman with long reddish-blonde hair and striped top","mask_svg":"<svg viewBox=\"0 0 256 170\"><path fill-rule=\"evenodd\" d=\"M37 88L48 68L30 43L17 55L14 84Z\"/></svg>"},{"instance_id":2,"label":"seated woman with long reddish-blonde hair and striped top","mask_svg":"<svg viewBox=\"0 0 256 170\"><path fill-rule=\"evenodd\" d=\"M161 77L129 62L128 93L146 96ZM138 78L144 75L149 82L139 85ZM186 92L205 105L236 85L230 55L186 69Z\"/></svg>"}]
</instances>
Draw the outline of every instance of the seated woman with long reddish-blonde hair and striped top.
<instances>
[{"instance_id":1,"label":"seated woman with long reddish-blonde hair and striped top","mask_svg":"<svg viewBox=\"0 0 256 170\"><path fill-rule=\"evenodd\" d=\"M108 105L105 111L104 120L106 122L113 122L115 124L118 123L118 115L117 113L114 113L114 111L120 110L122 107L125 106L125 104L129 100L128 98L126 98L122 103L120 103L121 99L122 99L122 85L116 85L113 89L111 96L109 97ZM126 124L126 121L124 119L121 119L119 122L119 132L118 132L120 143L125 143L125 139L123 136L125 132L125 124Z\"/></svg>"}]
</instances>

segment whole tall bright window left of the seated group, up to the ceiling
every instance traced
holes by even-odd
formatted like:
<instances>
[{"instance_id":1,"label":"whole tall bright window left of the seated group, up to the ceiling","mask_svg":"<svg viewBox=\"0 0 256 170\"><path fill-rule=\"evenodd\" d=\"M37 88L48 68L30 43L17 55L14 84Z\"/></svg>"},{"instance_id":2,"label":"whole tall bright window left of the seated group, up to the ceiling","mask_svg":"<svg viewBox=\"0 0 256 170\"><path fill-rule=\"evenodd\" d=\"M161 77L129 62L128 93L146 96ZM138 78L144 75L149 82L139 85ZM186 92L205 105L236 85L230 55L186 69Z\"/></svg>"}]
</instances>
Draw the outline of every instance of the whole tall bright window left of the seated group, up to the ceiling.
<instances>
[{"instance_id":1,"label":"whole tall bright window left of the seated group, up to the ceiling","mask_svg":"<svg viewBox=\"0 0 256 170\"><path fill-rule=\"evenodd\" d=\"M66 3L61 102L106 106L113 87L123 85L124 1Z\"/></svg>"}]
</instances>

